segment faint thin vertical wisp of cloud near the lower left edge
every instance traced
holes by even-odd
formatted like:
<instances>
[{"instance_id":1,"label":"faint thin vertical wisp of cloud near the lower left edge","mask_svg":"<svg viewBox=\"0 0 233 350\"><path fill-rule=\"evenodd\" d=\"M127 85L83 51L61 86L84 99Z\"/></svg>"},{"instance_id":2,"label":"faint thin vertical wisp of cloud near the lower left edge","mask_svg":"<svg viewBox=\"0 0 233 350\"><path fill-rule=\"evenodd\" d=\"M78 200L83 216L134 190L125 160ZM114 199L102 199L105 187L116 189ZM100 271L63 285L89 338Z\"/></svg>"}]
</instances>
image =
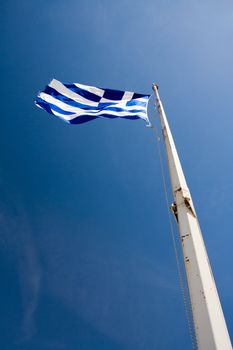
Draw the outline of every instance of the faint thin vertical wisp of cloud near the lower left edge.
<instances>
[{"instance_id":1,"label":"faint thin vertical wisp of cloud near the lower left edge","mask_svg":"<svg viewBox=\"0 0 233 350\"><path fill-rule=\"evenodd\" d=\"M8 263L18 272L22 302L21 343L36 333L34 320L39 302L41 267L27 213L9 193L0 202L0 246L10 257Z\"/></svg>"}]
</instances>

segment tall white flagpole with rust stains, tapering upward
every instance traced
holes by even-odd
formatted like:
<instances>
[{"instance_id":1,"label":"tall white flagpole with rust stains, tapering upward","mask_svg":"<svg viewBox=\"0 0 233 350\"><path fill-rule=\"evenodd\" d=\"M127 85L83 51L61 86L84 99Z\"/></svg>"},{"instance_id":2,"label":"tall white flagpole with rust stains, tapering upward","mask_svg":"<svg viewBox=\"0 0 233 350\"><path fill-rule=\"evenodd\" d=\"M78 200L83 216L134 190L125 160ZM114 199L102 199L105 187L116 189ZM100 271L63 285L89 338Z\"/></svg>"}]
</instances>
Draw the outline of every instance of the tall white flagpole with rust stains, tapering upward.
<instances>
[{"instance_id":1,"label":"tall white flagpole with rust stains, tapering upward","mask_svg":"<svg viewBox=\"0 0 233 350\"><path fill-rule=\"evenodd\" d=\"M232 350L225 318L205 249L192 197L189 192L170 127L153 84L165 142L168 168L179 226L188 291L199 350Z\"/></svg>"}]
</instances>

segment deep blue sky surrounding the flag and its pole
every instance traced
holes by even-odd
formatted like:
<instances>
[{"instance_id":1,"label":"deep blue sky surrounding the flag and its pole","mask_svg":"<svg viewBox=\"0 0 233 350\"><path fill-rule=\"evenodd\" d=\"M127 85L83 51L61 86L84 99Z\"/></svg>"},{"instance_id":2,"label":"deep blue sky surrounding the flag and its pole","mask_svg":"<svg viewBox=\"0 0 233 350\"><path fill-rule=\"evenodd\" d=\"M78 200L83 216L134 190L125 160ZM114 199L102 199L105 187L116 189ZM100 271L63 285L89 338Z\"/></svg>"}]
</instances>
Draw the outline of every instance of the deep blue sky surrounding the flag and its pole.
<instances>
[{"instance_id":1,"label":"deep blue sky surrounding the flag and its pole","mask_svg":"<svg viewBox=\"0 0 233 350\"><path fill-rule=\"evenodd\" d=\"M191 349L153 133L50 116L33 100L53 77L158 82L233 337L232 1L0 9L0 348Z\"/></svg>"}]
</instances>

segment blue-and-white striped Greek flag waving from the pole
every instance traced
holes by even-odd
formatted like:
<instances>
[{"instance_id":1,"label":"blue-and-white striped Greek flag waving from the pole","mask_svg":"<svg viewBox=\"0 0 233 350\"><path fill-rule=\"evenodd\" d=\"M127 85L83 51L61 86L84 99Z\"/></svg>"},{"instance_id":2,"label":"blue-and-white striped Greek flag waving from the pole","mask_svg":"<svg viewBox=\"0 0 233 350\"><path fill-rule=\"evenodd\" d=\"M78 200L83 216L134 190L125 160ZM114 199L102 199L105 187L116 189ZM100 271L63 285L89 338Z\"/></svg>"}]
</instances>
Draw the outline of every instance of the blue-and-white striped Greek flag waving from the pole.
<instances>
[{"instance_id":1,"label":"blue-and-white striped Greek flag waving from the pole","mask_svg":"<svg viewBox=\"0 0 233 350\"><path fill-rule=\"evenodd\" d=\"M82 84L64 84L53 79L40 92L36 105L69 124L96 118L144 119L150 95L102 89Z\"/></svg>"}]
</instances>

